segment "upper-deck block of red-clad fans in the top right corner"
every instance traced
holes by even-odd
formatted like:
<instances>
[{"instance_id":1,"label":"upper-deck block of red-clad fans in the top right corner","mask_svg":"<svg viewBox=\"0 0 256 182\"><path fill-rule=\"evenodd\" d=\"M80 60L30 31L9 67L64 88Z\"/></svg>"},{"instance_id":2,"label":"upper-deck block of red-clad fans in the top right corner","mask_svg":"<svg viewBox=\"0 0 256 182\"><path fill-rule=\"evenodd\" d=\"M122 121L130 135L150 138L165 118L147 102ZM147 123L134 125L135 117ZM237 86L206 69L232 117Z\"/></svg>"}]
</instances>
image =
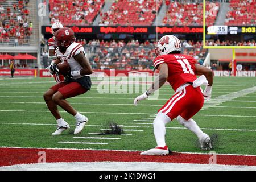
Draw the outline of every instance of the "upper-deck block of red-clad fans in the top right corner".
<instances>
[{"instance_id":1,"label":"upper-deck block of red-clad fans in the top right corner","mask_svg":"<svg viewBox=\"0 0 256 182\"><path fill-rule=\"evenodd\" d=\"M247 25L256 24L256 1L251 0L231 0L229 11L226 14L226 25Z\"/></svg>"}]
</instances>

